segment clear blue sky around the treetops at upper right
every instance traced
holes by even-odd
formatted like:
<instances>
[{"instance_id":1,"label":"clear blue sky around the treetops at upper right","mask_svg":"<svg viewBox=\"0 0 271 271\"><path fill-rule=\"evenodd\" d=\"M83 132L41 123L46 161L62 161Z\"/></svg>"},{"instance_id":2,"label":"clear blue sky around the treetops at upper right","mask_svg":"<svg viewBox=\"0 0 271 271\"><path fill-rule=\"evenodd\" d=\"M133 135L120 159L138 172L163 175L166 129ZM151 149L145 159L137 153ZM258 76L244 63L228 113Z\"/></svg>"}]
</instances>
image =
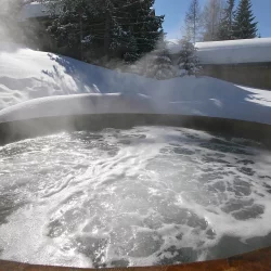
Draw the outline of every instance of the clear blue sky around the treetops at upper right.
<instances>
[{"instance_id":1,"label":"clear blue sky around the treetops at upper right","mask_svg":"<svg viewBox=\"0 0 271 271\"><path fill-rule=\"evenodd\" d=\"M201 4L207 0L199 0ZM191 0L156 0L156 14L165 14L164 30L168 39L181 38L181 28ZM238 2L238 1L236 1ZM262 37L271 37L271 0L251 0L259 31Z\"/></svg>"}]
</instances>

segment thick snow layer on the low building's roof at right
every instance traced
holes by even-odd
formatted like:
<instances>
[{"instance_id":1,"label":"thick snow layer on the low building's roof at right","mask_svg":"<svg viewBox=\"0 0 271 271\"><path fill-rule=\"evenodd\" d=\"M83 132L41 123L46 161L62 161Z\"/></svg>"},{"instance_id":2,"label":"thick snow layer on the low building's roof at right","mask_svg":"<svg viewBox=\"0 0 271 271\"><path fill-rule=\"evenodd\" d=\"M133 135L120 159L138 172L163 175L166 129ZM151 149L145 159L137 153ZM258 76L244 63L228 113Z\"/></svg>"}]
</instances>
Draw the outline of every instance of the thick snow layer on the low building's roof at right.
<instances>
[{"instance_id":1,"label":"thick snow layer on the low building's roof at right","mask_svg":"<svg viewBox=\"0 0 271 271\"><path fill-rule=\"evenodd\" d=\"M171 54L181 50L178 40L169 40ZM271 62L271 38L197 42L201 64L238 64Z\"/></svg>"}]
</instances>

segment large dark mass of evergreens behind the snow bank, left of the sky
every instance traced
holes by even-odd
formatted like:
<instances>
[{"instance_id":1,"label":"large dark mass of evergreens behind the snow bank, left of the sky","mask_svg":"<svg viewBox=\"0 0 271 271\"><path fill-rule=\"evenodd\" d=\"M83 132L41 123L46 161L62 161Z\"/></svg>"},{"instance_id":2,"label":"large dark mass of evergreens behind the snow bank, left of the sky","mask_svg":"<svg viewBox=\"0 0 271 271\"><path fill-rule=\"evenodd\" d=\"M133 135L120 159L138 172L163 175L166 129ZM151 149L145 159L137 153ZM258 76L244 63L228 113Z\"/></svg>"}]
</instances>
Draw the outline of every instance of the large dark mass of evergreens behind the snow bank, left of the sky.
<instances>
[{"instance_id":1,"label":"large dark mass of evergreens behind the snow bank, left of the sky","mask_svg":"<svg viewBox=\"0 0 271 271\"><path fill-rule=\"evenodd\" d=\"M53 24L49 31L59 47L92 51L95 57L132 62L152 51L163 33L154 0L47 0ZM103 50L101 50L103 49Z\"/></svg>"}]
</instances>

